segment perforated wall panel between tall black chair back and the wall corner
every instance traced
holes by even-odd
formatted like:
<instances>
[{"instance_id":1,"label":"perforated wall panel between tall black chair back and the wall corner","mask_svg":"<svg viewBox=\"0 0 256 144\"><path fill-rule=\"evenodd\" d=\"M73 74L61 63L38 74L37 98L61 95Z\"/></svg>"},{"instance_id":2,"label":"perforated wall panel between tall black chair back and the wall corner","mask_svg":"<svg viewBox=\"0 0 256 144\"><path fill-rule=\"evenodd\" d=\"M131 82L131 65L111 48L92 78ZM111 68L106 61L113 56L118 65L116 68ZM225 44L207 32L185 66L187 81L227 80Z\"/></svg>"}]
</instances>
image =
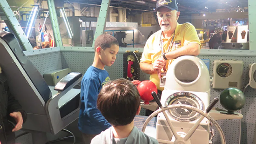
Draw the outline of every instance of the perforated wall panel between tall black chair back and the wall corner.
<instances>
[{"instance_id":1,"label":"perforated wall panel between tall black chair back and the wall corner","mask_svg":"<svg viewBox=\"0 0 256 144\"><path fill-rule=\"evenodd\" d=\"M62 69L60 52L32 55L28 58L42 75L49 71Z\"/></svg>"}]
</instances>

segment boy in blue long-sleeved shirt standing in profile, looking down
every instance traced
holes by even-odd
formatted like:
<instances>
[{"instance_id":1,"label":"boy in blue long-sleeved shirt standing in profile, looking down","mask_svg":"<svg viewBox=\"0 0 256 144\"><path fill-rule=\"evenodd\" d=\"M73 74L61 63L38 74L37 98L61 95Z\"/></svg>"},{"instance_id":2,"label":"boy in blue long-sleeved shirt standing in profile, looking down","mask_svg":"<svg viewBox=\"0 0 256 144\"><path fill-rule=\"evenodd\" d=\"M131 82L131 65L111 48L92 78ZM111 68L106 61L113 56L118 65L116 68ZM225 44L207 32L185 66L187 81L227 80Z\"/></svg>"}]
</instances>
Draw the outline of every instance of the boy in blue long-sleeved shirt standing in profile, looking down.
<instances>
[{"instance_id":1,"label":"boy in blue long-sleeved shirt standing in profile, looking down","mask_svg":"<svg viewBox=\"0 0 256 144\"><path fill-rule=\"evenodd\" d=\"M116 60L119 43L109 34L99 35L95 40L93 64L87 69L81 81L81 107L78 128L82 132L83 142L91 139L111 127L111 124L97 109L97 98L101 88L110 80L104 66L111 66Z\"/></svg>"}]
</instances>

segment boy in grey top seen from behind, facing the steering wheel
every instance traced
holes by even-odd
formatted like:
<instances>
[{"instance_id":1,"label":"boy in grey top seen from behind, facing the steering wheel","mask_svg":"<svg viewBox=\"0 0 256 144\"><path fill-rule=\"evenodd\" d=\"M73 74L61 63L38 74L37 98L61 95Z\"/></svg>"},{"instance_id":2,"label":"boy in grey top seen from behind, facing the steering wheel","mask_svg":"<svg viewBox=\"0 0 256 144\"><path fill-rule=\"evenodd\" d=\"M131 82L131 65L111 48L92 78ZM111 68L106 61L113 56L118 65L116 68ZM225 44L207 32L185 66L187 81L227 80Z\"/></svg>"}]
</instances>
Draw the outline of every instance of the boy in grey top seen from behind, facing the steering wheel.
<instances>
[{"instance_id":1,"label":"boy in grey top seen from behind, facing the steering wheel","mask_svg":"<svg viewBox=\"0 0 256 144\"><path fill-rule=\"evenodd\" d=\"M112 127L94 137L91 144L158 144L134 126L140 95L130 81L122 78L107 83L99 92L97 107Z\"/></svg>"}]
</instances>

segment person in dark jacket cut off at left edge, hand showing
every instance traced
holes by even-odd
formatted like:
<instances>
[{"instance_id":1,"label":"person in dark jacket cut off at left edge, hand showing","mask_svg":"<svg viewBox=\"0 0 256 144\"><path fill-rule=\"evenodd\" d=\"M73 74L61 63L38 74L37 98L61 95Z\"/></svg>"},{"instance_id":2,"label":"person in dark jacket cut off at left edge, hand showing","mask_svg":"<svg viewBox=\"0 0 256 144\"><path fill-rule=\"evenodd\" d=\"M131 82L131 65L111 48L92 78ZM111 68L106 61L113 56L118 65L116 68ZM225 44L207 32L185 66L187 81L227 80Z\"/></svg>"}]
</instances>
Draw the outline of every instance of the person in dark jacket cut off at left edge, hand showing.
<instances>
[{"instance_id":1,"label":"person in dark jacket cut off at left edge, hand showing","mask_svg":"<svg viewBox=\"0 0 256 144\"><path fill-rule=\"evenodd\" d=\"M0 143L14 144L15 131L22 128L27 114L9 90L0 67Z\"/></svg>"}]
</instances>

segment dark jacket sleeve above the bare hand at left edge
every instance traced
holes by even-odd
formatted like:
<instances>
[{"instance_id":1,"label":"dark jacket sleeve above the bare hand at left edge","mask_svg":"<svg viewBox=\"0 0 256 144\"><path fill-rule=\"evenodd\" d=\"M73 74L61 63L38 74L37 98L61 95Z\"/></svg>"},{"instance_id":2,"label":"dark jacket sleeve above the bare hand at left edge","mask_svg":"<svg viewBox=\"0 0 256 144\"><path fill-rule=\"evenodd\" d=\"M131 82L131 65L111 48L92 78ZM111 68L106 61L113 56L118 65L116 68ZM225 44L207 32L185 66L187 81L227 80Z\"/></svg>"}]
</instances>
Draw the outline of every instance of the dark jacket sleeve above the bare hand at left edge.
<instances>
[{"instance_id":1,"label":"dark jacket sleeve above the bare hand at left edge","mask_svg":"<svg viewBox=\"0 0 256 144\"><path fill-rule=\"evenodd\" d=\"M26 112L22 109L19 102L12 95L7 84L5 84L5 87L7 87L7 95L8 95L8 102L7 102L8 119L11 120L14 124L16 124L16 121L14 120L14 118L10 117L9 114L12 112L21 112L23 123L25 123L25 121L27 120Z\"/></svg>"}]
</instances>

